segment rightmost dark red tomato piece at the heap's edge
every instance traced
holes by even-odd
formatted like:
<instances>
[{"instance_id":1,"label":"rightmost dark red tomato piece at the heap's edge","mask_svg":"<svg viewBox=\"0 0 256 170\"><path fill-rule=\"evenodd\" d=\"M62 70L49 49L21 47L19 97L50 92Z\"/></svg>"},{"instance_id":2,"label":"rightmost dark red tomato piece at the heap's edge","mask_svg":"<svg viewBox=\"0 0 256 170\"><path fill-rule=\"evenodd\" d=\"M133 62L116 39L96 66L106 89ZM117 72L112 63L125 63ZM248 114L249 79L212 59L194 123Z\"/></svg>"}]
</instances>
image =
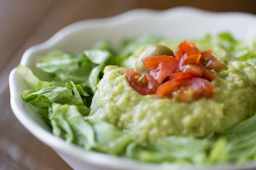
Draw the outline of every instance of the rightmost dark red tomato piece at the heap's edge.
<instances>
[{"instance_id":1,"label":"rightmost dark red tomato piece at the heap's edge","mask_svg":"<svg viewBox=\"0 0 256 170\"><path fill-rule=\"evenodd\" d=\"M202 56L200 58L200 62L208 69L213 69L217 72L221 71L226 67L224 63L219 61L216 57L212 56L211 51L203 51L201 52Z\"/></svg>"}]
</instances>

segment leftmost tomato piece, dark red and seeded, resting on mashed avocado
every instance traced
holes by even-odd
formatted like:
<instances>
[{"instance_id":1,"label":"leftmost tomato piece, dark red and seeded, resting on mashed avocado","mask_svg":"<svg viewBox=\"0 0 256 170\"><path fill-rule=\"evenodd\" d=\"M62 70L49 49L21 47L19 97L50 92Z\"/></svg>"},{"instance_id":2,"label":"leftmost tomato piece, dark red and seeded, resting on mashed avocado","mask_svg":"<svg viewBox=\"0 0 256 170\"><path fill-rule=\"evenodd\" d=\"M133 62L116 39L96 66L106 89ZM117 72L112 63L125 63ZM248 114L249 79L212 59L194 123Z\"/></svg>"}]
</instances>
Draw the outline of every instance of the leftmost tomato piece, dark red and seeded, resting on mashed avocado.
<instances>
[{"instance_id":1,"label":"leftmost tomato piece, dark red and seeded, resting on mashed avocado","mask_svg":"<svg viewBox=\"0 0 256 170\"><path fill-rule=\"evenodd\" d=\"M126 69L125 76L130 86L142 95L155 94L159 84L148 74L140 74L132 69Z\"/></svg>"}]
</instances>

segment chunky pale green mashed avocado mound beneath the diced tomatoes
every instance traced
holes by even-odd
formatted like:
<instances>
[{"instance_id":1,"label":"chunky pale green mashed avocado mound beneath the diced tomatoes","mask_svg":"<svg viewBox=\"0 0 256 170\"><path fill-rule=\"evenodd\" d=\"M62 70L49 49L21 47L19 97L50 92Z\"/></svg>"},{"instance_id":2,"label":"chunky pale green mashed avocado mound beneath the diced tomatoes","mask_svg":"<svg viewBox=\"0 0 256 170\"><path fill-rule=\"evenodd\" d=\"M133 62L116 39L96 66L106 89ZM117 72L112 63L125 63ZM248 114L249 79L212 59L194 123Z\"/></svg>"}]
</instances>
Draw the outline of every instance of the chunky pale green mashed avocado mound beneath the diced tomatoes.
<instances>
[{"instance_id":1,"label":"chunky pale green mashed avocado mound beneath the diced tomatoes","mask_svg":"<svg viewBox=\"0 0 256 170\"><path fill-rule=\"evenodd\" d=\"M130 87L125 70L117 66L104 69L95 97L100 106L97 116L105 117L139 142L156 142L170 135L205 137L221 133L252 116L256 109L256 69L247 62L230 62L228 69L212 81L213 97L192 103L142 96Z\"/></svg>"}]
</instances>

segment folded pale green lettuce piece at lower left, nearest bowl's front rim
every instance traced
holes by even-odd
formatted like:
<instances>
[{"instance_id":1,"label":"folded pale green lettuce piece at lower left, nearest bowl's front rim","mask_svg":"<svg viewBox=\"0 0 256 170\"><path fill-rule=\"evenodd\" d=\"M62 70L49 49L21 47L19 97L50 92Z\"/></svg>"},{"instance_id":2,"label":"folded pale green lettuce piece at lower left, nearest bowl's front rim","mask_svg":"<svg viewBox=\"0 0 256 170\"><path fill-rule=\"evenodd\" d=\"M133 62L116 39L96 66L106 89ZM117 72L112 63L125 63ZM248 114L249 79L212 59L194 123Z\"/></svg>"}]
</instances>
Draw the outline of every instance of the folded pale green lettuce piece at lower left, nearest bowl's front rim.
<instances>
[{"instance_id":1,"label":"folded pale green lettuce piece at lower left, nearest bowl's front rim","mask_svg":"<svg viewBox=\"0 0 256 170\"><path fill-rule=\"evenodd\" d=\"M50 117L53 122L53 133L67 142L73 142L91 149L95 146L92 126L83 119L83 115L74 105L53 103L53 113Z\"/></svg>"}]
</instances>

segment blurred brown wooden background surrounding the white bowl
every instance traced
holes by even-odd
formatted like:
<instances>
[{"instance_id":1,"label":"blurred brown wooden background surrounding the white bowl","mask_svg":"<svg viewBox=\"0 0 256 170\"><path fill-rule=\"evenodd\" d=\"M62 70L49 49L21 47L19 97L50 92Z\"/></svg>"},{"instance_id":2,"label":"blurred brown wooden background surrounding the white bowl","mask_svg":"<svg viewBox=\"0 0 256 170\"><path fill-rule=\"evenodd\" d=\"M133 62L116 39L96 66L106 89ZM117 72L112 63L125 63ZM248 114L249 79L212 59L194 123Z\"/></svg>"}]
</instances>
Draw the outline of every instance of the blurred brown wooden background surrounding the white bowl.
<instances>
[{"instance_id":1,"label":"blurred brown wooden background surrounding the white bowl","mask_svg":"<svg viewBox=\"0 0 256 170\"><path fill-rule=\"evenodd\" d=\"M8 76L27 48L79 20L110 17L135 8L177 6L256 14L255 0L0 0L0 170L71 169L22 127L11 111Z\"/></svg>"}]
</instances>

